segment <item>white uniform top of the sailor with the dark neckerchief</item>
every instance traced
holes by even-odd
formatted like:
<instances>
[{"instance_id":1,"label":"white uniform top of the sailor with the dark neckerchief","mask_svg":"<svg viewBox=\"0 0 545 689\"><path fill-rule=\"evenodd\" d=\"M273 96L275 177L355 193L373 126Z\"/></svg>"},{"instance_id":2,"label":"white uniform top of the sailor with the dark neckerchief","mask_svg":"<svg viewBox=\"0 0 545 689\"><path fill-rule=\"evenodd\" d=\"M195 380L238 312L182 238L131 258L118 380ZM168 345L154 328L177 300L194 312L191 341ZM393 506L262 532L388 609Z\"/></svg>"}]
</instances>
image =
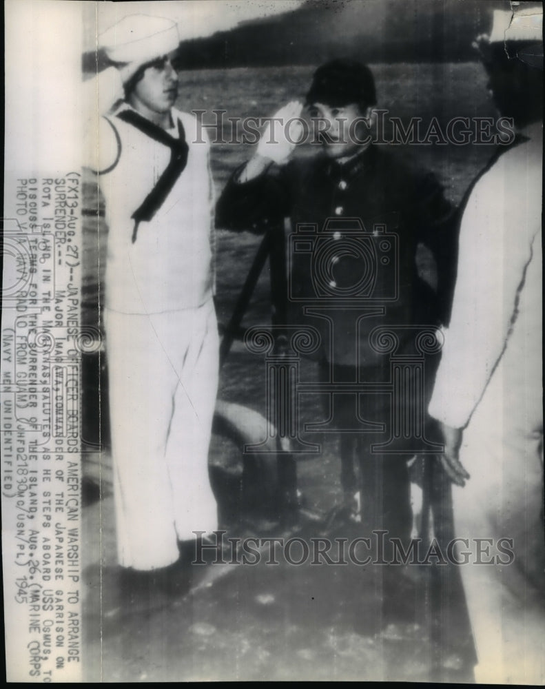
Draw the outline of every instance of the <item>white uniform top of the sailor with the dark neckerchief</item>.
<instances>
[{"instance_id":1,"label":"white uniform top of the sailor with the dark neckerchief","mask_svg":"<svg viewBox=\"0 0 545 689\"><path fill-rule=\"evenodd\" d=\"M102 111L119 95L120 85L113 68L99 75ZM178 119L182 122L189 147L187 165L150 222L139 223L133 243L131 216L163 174L171 150L115 116L124 109L130 105L123 103L108 117L119 142L111 125L103 121L99 130L100 185L109 227L105 305L140 314L196 308L212 296L209 142L193 115L172 108L174 128L167 133L178 138Z\"/></svg>"}]
</instances>

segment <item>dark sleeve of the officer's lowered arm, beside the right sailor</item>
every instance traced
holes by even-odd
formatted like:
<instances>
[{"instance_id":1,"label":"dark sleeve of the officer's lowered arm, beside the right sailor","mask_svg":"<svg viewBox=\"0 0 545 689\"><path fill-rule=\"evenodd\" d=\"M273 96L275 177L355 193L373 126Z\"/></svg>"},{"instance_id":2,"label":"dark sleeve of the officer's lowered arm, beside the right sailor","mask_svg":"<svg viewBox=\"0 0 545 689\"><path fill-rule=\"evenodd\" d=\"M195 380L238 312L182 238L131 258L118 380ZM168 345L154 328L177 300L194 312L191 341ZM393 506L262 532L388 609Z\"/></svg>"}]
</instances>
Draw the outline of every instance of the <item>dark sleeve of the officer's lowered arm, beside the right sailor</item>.
<instances>
[{"instance_id":1,"label":"dark sleeve of the officer's lowered arm, beside the right sailor","mask_svg":"<svg viewBox=\"0 0 545 689\"><path fill-rule=\"evenodd\" d=\"M431 172L417 178L413 198L411 225L417 240L428 247L435 260L439 316L447 325L456 280L458 216Z\"/></svg>"}]
</instances>

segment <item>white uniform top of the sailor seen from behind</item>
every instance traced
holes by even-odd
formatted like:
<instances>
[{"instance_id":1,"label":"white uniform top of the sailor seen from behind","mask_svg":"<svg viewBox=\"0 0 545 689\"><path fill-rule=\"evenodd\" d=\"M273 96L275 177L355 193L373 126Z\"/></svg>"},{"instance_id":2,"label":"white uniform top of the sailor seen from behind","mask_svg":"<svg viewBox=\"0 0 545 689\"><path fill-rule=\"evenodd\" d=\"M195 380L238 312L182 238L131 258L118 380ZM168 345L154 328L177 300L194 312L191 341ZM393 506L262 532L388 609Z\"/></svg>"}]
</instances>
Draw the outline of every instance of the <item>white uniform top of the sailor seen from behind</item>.
<instances>
[{"instance_id":1,"label":"white uniform top of the sailor seen from behind","mask_svg":"<svg viewBox=\"0 0 545 689\"><path fill-rule=\"evenodd\" d=\"M462 219L451 322L429 404L453 428L468 424L500 359L504 404L524 407L528 423L541 415L541 123L522 134L530 141L482 176Z\"/></svg>"}]
</instances>

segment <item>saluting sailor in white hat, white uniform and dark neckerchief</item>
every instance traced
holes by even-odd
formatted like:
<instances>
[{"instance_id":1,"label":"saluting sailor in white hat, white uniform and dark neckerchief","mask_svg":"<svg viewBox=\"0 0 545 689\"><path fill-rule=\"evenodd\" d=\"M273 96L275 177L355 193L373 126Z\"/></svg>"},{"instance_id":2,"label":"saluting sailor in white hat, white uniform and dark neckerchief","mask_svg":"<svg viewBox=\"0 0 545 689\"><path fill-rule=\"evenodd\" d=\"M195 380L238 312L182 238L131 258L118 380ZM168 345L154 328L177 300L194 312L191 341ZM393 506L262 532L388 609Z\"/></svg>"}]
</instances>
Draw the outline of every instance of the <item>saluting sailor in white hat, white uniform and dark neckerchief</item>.
<instances>
[{"instance_id":1,"label":"saluting sailor in white hat, white uniform and dark neckerchief","mask_svg":"<svg viewBox=\"0 0 545 689\"><path fill-rule=\"evenodd\" d=\"M218 384L209 143L174 107L176 23L133 15L99 37L95 90L108 225L105 337L119 563L172 570L217 528L207 455ZM97 84L98 81L98 84ZM97 107L97 95L98 104Z\"/></svg>"}]
</instances>

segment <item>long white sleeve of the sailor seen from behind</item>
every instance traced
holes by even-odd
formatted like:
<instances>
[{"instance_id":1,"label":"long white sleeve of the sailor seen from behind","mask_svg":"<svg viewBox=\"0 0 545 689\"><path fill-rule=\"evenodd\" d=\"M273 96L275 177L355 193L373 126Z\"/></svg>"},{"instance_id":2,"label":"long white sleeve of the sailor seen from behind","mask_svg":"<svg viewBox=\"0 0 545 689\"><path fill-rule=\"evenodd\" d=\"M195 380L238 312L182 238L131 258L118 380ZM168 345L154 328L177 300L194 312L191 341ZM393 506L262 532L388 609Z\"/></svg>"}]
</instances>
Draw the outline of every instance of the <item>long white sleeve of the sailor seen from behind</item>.
<instances>
[{"instance_id":1,"label":"long white sleeve of the sailor seen from behind","mask_svg":"<svg viewBox=\"0 0 545 689\"><path fill-rule=\"evenodd\" d=\"M469 422L502 356L531 253L521 196L502 163L475 185L460 228L451 322L429 404L430 415L453 428Z\"/></svg>"}]
</instances>

